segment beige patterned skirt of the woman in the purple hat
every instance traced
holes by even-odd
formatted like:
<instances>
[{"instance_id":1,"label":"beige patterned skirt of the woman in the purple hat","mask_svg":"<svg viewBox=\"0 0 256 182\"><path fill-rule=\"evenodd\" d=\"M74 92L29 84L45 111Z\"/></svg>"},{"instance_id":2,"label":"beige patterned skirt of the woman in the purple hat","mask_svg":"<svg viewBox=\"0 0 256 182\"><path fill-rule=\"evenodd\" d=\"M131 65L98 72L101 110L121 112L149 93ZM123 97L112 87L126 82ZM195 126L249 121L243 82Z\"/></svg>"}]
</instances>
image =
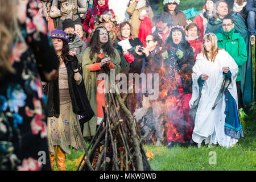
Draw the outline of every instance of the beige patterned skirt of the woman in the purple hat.
<instances>
[{"instance_id":1,"label":"beige patterned skirt of the woman in the purple hat","mask_svg":"<svg viewBox=\"0 0 256 182\"><path fill-rule=\"evenodd\" d=\"M60 146L66 153L71 154L70 146L83 151L78 117L73 113L72 103L60 105L60 117L47 118L49 152L55 153L53 146ZM82 134L81 134L82 136Z\"/></svg>"}]
</instances>

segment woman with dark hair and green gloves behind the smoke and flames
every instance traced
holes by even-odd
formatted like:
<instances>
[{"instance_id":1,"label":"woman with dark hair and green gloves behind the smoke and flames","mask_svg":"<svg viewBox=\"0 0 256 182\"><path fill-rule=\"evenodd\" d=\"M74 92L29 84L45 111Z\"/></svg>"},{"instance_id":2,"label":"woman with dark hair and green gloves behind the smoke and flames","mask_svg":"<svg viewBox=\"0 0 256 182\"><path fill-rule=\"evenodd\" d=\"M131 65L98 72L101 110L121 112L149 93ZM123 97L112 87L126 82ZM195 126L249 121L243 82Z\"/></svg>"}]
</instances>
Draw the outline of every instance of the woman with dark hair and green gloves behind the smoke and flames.
<instances>
[{"instance_id":1,"label":"woman with dark hair and green gloves behind the smoke and flames","mask_svg":"<svg viewBox=\"0 0 256 182\"><path fill-rule=\"evenodd\" d=\"M192 94L192 67L195 64L193 48L185 39L182 28L172 28L166 40L162 57L169 78L167 101L168 148L175 142L189 142L193 131L193 119L188 114L188 102Z\"/></svg>"}]
</instances>

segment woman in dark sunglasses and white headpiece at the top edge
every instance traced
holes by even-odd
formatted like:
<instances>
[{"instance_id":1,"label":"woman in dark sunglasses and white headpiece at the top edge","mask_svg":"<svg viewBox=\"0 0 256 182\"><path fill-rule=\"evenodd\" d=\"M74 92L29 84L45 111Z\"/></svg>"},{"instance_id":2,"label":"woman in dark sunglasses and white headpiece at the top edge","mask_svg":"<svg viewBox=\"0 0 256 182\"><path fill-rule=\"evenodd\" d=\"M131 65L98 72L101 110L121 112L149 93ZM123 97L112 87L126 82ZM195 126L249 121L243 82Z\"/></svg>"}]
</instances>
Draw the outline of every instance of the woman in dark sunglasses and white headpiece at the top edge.
<instances>
[{"instance_id":1,"label":"woman in dark sunglasses and white headpiece at the top edge","mask_svg":"<svg viewBox=\"0 0 256 182\"><path fill-rule=\"evenodd\" d=\"M186 15L180 11L180 0L164 0L164 11L170 14L172 19L172 24L176 26L179 24L180 26L187 25Z\"/></svg>"}]
</instances>

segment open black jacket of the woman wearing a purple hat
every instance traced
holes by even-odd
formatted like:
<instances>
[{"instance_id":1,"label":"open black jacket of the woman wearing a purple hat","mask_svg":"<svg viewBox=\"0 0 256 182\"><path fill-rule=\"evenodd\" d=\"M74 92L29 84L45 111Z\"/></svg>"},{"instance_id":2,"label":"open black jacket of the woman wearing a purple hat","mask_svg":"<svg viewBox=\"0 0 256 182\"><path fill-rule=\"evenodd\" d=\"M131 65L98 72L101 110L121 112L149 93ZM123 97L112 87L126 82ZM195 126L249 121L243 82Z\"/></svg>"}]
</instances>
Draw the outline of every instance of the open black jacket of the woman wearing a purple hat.
<instances>
[{"instance_id":1,"label":"open black jacket of the woman wearing a purple hat","mask_svg":"<svg viewBox=\"0 0 256 182\"><path fill-rule=\"evenodd\" d=\"M69 56L68 59L77 59ZM71 96L73 112L79 115L84 115L85 120L89 121L93 117L94 112L87 98L84 80L81 81L80 85L76 84L74 79L73 69L71 67L71 61L65 63L68 73L68 87ZM79 73L82 75L82 71L79 68ZM48 109L47 117L60 116L60 94L59 94L59 77L47 83L44 87L44 93L48 97Z\"/></svg>"}]
</instances>

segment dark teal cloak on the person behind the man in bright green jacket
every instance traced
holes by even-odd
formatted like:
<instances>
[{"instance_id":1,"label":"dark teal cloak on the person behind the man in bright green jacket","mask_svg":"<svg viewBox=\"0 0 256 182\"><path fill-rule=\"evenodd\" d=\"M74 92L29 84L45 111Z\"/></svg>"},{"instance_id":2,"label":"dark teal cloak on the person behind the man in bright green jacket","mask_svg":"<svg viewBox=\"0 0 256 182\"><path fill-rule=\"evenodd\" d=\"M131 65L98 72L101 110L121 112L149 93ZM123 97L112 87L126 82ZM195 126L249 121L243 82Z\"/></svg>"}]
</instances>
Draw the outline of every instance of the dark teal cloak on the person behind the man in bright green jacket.
<instances>
[{"instance_id":1,"label":"dark teal cloak on the person behind the man in bright green jacket","mask_svg":"<svg viewBox=\"0 0 256 182\"><path fill-rule=\"evenodd\" d=\"M233 13L232 17L234 19L234 24L235 24L234 29L240 32L240 35L245 40L245 44L246 44L247 61L245 64L242 65L242 68L241 68L241 77L242 77L241 91L243 95L243 104L246 105L246 104L250 104L253 98L251 43L250 43L249 32L245 24L245 20L242 18L242 16L239 13ZM222 27L221 19L214 20L210 18L207 24L207 30L205 31L205 34L209 32L213 32L213 34L217 34L218 32L221 32L221 27Z\"/></svg>"}]
</instances>

